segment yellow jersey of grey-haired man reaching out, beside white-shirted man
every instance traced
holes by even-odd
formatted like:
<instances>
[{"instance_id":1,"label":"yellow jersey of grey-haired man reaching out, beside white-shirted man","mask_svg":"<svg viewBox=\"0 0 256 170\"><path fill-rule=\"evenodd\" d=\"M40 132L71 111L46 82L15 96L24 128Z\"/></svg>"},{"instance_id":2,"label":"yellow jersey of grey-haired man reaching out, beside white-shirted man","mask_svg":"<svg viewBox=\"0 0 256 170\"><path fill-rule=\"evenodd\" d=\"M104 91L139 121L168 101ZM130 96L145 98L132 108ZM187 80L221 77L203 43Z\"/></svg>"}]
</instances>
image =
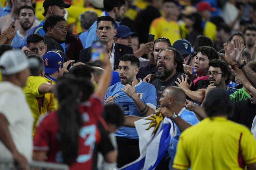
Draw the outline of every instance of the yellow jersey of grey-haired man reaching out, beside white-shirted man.
<instances>
[{"instance_id":1,"label":"yellow jersey of grey-haired man reaching out, beside white-shirted man","mask_svg":"<svg viewBox=\"0 0 256 170\"><path fill-rule=\"evenodd\" d=\"M48 83L44 77L29 76L26 86L23 87L23 92L25 93L26 100L35 119L33 129L42 112L44 94L39 94L38 88L44 83Z\"/></svg>"}]
</instances>

